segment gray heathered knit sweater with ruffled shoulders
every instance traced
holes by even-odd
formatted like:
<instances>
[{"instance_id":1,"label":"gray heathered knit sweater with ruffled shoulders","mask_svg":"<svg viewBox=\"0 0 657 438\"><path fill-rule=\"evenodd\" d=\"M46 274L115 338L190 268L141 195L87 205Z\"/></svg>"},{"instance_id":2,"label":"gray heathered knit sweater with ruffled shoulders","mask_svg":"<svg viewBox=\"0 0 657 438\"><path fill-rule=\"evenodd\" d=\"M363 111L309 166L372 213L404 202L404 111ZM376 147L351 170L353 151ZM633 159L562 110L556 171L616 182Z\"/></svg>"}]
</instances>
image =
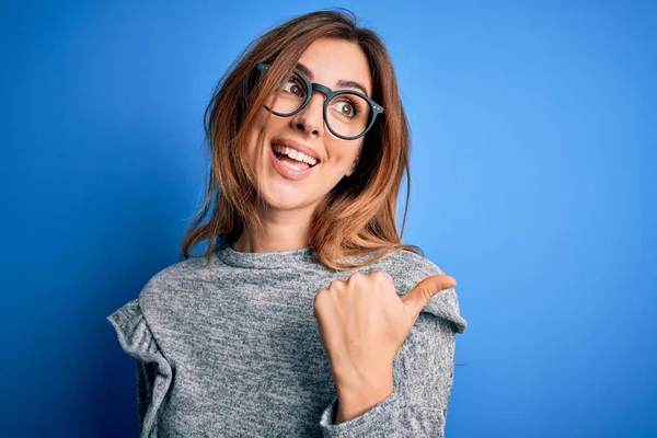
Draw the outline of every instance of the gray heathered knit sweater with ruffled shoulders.
<instances>
[{"instance_id":1,"label":"gray heathered knit sweater with ruffled shoulders","mask_svg":"<svg viewBox=\"0 0 657 438\"><path fill-rule=\"evenodd\" d=\"M388 272L399 296L442 274L408 251L339 273L321 265L311 247L230 246L208 266L195 257L155 274L107 316L137 359L141 437L442 437L456 334L466 326L453 288L431 299L400 348L393 393L334 423L337 393L313 298L355 270Z\"/></svg>"}]
</instances>

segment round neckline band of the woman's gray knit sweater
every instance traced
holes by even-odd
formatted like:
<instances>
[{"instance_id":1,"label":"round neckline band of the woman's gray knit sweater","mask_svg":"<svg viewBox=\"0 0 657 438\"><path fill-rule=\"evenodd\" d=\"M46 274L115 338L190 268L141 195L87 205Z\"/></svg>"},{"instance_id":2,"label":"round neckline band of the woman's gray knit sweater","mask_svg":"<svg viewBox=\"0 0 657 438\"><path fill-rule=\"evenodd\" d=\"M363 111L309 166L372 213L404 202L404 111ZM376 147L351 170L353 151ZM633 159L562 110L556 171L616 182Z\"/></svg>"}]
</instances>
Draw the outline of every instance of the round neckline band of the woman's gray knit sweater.
<instances>
[{"instance_id":1,"label":"round neckline band of the woman's gray knit sweater","mask_svg":"<svg viewBox=\"0 0 657 438\"><path fill-rule=\"evenodd\" d=\"M303 263L319 263L312 246L288 251L245 253L224 245L217 250L217 256L227 265L255 269L278 269Z\"/></svg>"}]
</instances>

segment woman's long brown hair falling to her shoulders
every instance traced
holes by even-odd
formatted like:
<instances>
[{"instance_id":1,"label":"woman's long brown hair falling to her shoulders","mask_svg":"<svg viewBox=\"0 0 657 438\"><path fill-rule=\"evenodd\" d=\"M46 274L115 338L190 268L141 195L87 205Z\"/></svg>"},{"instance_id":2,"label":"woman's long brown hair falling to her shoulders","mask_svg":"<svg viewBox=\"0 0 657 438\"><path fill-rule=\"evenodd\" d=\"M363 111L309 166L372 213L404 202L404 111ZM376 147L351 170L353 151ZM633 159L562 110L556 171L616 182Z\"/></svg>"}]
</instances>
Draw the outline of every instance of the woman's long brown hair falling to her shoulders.
<instances>
[{"instance_id":1,"label":"woman's long brown hair falling to her shoulders","mask_svg":"<svg viewBox=\"0 0 657 438\"><path fill-rule=\"evenodd\" d=\"M206 199L185 233L181 260L188 258L189 250L207 239L209 262L215 239L221 247L234 243L245 229L262 230L260 183L246 153L250 128L306 48L326 37L355 43L365 53L372 74L371 97L385 113L365 136L354 173L316 208L310 245L323 265L336 270L362 267L401 250L424 255L418 246L401 242L395 224L397 192L406 172L403 234L411 193L411 139L390 55L373 31L358 27L354 14L341 9L308 13L274 27L250 44L217 83L204 115L211 154ZM263 61L272 68L262 81L254 82L255 66ZM208 222L201 224L208 212ZM369 260L360 258L372 253ZM360 261L346 260L354 256Z\"/></svg>"}]
</instances>

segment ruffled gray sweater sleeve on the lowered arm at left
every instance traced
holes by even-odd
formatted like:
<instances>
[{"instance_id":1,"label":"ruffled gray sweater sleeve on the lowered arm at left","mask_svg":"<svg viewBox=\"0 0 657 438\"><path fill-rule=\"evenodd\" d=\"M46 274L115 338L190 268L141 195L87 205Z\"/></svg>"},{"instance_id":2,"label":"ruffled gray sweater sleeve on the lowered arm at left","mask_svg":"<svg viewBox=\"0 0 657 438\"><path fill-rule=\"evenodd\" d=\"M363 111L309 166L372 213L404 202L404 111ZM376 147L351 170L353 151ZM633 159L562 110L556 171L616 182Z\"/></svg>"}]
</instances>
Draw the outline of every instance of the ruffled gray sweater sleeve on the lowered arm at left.
<instances>
[{"instance_id":1,"label":"ruffled gray sweater sleeve on the lowered arm at left","mask_svg":"<svg viewBox=\"0 0 657 438\"><path fill-rule=\"evenodd\" d=\"M141 438L158 436L158 411L169 392L172 368L158 347L138 299L129 301L107 320L114 326L120 347L137 360L137 406Z\"/></svg>"}]
</instances>

